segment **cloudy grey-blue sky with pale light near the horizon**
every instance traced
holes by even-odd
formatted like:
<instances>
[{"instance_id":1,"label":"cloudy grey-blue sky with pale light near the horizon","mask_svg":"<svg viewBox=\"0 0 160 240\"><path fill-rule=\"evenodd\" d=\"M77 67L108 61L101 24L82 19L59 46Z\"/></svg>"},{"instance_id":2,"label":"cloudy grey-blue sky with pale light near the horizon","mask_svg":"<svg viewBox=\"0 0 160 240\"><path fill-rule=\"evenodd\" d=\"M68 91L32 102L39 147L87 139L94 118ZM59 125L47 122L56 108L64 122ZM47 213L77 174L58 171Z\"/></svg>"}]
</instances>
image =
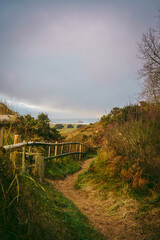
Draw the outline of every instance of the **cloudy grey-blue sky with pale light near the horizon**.
<instances>
[{"instance_id":1,"label":"cloudy grey-blue sky with pale light near the horizon","mask_svg":"<svg viewBox=\"0 0 160 240\"><path fill-rule=\"evenodd\" d=\"M100 118L137 101L137 42L160 0L0 0L0 101Z\"/></svg>"}]
</instances>

